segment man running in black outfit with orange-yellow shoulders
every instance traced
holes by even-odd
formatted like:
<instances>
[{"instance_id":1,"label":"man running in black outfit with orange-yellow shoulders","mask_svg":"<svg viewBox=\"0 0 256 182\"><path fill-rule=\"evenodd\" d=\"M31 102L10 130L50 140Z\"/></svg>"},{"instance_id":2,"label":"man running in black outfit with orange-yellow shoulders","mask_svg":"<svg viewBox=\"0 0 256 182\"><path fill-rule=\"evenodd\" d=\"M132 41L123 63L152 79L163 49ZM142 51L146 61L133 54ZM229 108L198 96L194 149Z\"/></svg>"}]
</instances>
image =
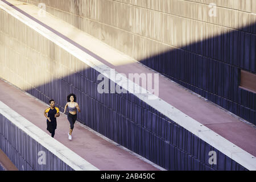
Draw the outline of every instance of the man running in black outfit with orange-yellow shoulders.
<instances>
[{"instance_id":1,"label":"man running in black outfit with orange-yellow shoulders","mask_svg":"<svg viewBox=\"0 0 256 182\"><path fill-rule=\"evenodd\" d=\"M60 113L59 113L59 108L55 107L54 100L49 100L49 105L50 107L44 110L44 116L47 118L46 120L47 130L49 131L49 133L52 134L52 138L53 138L55 135L55 130L57 128L56 117L59 117ZM48 113L48 115L46 115L46 113Z\"/></svg>"}]
</instances>

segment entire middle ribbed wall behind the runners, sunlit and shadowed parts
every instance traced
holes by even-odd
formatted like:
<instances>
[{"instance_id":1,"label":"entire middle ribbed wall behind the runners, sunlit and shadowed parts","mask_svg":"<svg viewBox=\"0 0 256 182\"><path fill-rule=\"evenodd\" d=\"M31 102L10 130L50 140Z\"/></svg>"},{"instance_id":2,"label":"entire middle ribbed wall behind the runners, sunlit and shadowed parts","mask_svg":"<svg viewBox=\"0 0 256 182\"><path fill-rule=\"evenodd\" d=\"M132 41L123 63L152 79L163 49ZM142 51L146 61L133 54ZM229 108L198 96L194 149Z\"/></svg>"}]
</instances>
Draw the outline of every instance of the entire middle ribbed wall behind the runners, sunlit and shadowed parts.
<instances>
[{"instance_id":1,"label":"entire middle ribbed wall behind the runners, sunlit and shadowed parts","mask_svg":"<svg viewBox=\"0 0 256 182\"><path fill-rule=\"evenodd\" d=\"M46 103L55 98L61 111L75 93L81 123L166 169L246 170L133 94L99 94L100 72L2 10L0 19L0 77Z\"/></svg>"}]
</instances>

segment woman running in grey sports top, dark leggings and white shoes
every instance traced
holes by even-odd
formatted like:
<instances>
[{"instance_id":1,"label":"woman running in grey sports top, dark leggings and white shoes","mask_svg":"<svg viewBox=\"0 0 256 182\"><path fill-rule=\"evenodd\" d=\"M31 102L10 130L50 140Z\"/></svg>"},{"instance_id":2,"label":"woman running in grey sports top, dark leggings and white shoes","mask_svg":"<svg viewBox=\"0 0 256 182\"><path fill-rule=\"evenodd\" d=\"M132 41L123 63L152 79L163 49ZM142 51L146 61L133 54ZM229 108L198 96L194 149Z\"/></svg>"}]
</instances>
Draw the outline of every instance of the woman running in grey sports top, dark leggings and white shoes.
<instances>
[{"instance_id":1,"label":"woman running in grey sports top, dark leggings and white shoes","mask_svg":"<svg viewBox=\"0 0 256 182\"><path fill-rule=\"evenodd\" d=\"M76 110L79 111L79 113L81 112L79 105L76 103L76 95L75 94L69 94L67 97L67 104L65 105L65 109L64 109L64 113L66 112L66 109L68 107L69 112L68 112L68 121L70 123L70 129L69 129L69 133L68 133L68 139L72 140L72 131L74 129L74 125L76 122L76 118L77 118L77 114L76 114Z\"/></svg>"}]
</instances>

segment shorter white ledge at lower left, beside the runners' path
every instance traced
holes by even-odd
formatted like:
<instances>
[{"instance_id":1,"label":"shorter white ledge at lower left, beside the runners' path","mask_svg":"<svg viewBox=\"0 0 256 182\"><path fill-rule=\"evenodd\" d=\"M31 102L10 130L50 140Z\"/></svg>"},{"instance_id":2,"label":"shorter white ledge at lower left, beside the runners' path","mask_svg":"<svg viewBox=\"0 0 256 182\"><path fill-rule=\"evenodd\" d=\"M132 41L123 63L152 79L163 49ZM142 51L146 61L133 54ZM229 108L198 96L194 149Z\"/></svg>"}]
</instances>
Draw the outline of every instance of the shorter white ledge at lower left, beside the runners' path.
<instances>
[{"instance_id":1,"label":"shorter white ledge at lower left, beside the runners' path","mask_svg":"<svg viewBox=\"0 0 256 182\"><path fill-rule=\"evenodd\" d=\"M5 105L0 101L0 114L9 119L16 127L24 131L31 138L40 143L43 147L47 148L48 151L52 152L57 158L68 164L71 168L76 171L99 171L98 168L81 158L75 152L64 146L56 139L49 136L39 127L32 124L26 118L16 113L13 109Z\"/></svg>"}]
</instances>

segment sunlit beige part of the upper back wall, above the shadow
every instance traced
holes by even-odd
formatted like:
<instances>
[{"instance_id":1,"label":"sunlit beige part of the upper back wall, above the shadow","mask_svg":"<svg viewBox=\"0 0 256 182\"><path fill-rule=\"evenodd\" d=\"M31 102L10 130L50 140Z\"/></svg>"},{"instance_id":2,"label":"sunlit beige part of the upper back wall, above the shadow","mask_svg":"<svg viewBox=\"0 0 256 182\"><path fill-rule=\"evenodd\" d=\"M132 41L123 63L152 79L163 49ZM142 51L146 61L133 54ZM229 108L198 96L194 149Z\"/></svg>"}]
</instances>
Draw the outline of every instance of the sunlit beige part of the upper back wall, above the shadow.
<instances>
[{"instance_id":1,"label":"sunlit beige part of the upper back wall, above the shadow","mask_svg":"<svg viewBox=\"0 0 256 182\"><path fill-rule=\"evenodd\" d=\"M256 22L254 0L22 0L65 20L136 60ZM210 3L216 17L210 17Z\"/></svg>"}]
</instances>

